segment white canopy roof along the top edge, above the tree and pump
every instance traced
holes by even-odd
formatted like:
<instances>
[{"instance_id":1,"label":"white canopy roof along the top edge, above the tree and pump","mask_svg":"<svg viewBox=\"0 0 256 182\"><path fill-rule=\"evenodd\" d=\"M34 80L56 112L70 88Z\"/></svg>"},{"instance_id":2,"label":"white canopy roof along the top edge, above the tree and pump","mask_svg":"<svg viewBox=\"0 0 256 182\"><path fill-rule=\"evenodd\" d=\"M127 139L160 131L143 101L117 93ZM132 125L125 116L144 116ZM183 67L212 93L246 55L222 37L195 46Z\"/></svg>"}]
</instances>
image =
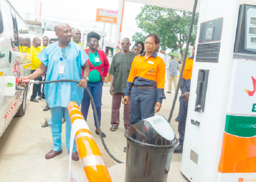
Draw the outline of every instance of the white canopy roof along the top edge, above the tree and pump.
<instances>
[{"instance_id":1,"label":"white canopy roof along the top edge, above the tree and pump","mask_svg":"<svg viewBox=\"0 0 256 182\"><path fill-rule=\"evenodd\" d=\"M164 8L192 11L194 6L194 0L126 0L133 3L141 3L152 6L159 6ZM198 0L198 5L196 12L199 13L200 1ZM241 4L256 5L256 0L241 0Z\"/></svg>"}]
</instances>

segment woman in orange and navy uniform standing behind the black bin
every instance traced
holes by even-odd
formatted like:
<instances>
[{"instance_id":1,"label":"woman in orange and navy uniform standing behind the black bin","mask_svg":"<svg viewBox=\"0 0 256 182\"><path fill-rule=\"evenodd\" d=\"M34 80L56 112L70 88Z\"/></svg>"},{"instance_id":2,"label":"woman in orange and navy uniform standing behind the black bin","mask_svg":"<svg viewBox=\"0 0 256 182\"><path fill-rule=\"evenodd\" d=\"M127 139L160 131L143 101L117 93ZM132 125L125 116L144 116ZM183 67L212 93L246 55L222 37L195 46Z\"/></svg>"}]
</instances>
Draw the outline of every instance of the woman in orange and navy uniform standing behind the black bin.
<instances>
[{"instance_id":1,"label":"woman in orange and navy uniform standing behind the black bin","mask_svg":"<svg viewBox=\"0 0 256 182\"><path fill-rule=\"evenodd\" d=\"M145 52L136 56L132 62L122 100L123 104L127 104L131 94L131 125L141 119L153 117L155 112L160 111L162 100L166 98L165 63L154 51L159 42L156 34L149 34L145 38Z\"/></svg>"}]
</instances>

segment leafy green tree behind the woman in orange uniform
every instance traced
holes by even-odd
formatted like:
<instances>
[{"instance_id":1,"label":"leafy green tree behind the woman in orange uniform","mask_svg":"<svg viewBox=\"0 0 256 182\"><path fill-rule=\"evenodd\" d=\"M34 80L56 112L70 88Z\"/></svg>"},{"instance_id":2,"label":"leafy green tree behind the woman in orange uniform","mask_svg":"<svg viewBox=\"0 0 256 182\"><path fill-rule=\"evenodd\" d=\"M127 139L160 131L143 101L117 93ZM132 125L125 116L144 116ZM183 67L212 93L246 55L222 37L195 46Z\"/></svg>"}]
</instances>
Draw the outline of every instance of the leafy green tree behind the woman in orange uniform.
<instances>
[{"instance_id":1,"label":"leafy green tree behind the woman in orange uniform","mask_svg":"<svg viewBox=\"0 0 256 182\"><path fill-rule=\"evenodd\" d=\"M162 50L167 48L173 52L179 51L181 58L184 56L183 47L186 44L192 12L167 9L157 6L145 5L142 12L135 18L138 28L142 32L136 32L132 37L133 41L145 40L145 35L154 33L160 37ZM191 44L195 43L198 24L198 13L195 14Z\"/></svg>"}]
</instances>

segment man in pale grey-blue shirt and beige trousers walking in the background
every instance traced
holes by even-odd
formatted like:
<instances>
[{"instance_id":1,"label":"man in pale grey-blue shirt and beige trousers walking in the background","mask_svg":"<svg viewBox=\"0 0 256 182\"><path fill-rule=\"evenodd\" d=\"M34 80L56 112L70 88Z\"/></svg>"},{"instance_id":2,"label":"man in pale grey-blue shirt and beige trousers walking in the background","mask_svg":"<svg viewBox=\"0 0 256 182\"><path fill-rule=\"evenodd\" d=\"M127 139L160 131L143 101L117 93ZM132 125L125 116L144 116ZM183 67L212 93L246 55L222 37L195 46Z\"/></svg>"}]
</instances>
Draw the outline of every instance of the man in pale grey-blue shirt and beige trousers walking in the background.
<instances>
[{"instance_id":1,"label":"man in pale grey-blue shirt and beige trousers walking in the background","mask_svg":"<svg viewBox=\"0 0 256 182\"><path fill-rule=\"evenodd\" d=\"M171 56L171 63L169 66L169 79L168 79L168 94L171 94L172 91L172 81L176 91L177 88L177 80L178 80L178 68L179 62L177 62L173 56Z\"/></svg>"}]
</instances>

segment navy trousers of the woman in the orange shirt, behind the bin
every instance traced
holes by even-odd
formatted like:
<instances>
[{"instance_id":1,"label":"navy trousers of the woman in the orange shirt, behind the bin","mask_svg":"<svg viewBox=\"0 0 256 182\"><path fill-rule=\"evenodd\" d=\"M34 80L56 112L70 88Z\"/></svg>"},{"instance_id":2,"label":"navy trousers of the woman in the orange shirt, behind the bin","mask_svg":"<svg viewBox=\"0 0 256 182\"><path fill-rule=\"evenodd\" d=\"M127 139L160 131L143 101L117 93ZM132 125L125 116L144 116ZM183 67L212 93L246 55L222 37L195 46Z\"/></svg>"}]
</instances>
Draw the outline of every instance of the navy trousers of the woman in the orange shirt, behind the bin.
<instances>
[{"instance_id":1,"label":"navy trousers of the woman in the orange shirt, behind the bin","mask_svg":"<svg viewBox=\"0 0 256 182\"><path fill-rule=\"evenodd\" d=\"M131 89L130 122L134 125L142 119L154 116L154 106L157 103L157 89Z\"/></svg>"}]
</instances>

